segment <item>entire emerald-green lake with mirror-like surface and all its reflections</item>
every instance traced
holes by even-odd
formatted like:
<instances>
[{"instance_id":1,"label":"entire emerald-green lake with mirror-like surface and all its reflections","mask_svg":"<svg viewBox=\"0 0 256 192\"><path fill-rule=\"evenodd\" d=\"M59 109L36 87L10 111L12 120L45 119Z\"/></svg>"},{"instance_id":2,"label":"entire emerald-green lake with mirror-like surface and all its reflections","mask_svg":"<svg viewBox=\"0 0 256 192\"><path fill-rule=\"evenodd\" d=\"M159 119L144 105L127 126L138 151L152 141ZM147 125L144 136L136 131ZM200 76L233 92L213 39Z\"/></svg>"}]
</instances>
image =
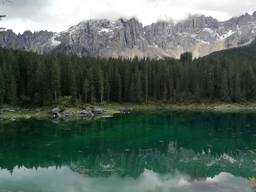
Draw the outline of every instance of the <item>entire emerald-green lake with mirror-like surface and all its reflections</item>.
<instances>
[{"instance_id":1,"label":"entire emerald-green lake with mirror-like surface and all its reflections","mask_svg":"<svg viewBox=\"0 0 256 192\"><path fill-rule=\"evenodd\" d=\"M0 192L251 192L256 113L0 123L0 168Z\"/></svg>"}]
</instances>

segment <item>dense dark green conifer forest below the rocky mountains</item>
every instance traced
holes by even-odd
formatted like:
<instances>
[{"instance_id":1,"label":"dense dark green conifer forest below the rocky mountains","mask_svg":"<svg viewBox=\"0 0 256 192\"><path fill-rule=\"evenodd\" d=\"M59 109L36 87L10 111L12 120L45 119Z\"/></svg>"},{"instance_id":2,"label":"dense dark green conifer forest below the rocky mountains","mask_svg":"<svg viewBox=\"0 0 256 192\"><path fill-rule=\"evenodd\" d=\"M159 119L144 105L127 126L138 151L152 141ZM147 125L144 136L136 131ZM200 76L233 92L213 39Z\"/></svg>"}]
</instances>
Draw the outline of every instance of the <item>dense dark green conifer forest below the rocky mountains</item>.
<instances>
[{"instance_id":1,"label":"dense dark green conifer forest below the rocky mountains","mask_svg":"<svg viewBox=\"0 0 256 192\"><path fill-rule=\"evenodd\" d=\"M191 95L195 102L240 102L256 99L256 47L218 51L192 60L137 57L92 58L41 56L0 49L0 104L47 105L58 97L73 103L167 103Z\"/></svg>"}]
</instances>

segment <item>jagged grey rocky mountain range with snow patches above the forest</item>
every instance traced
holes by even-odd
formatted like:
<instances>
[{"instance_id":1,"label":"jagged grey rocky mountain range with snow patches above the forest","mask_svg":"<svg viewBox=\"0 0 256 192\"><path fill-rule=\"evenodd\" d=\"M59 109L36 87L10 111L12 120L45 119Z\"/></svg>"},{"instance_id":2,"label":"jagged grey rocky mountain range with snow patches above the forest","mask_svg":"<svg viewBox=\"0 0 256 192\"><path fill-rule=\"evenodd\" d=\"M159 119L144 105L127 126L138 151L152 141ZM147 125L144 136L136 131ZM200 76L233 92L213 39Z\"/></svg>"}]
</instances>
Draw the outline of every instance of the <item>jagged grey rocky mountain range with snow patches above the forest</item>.
<instances>
[{"instance_id":1,"label":"jagged grey rocky mountain range with snow patches above the forest","mask_svg":"<svg viewBox=\"0 0 256 192\"><path fill-rule=\"evenodd\" d=\"M117 21L88 20L60 33L25 31L0 35L1 47L36 51L38 54L77 54L133 58L179 58L184 51L193 57L248 45L256 38L256 11L219 22L211 16L193 15L174 23L157 22L143 27L134 18Z\"/></svg>"}]
</instances>

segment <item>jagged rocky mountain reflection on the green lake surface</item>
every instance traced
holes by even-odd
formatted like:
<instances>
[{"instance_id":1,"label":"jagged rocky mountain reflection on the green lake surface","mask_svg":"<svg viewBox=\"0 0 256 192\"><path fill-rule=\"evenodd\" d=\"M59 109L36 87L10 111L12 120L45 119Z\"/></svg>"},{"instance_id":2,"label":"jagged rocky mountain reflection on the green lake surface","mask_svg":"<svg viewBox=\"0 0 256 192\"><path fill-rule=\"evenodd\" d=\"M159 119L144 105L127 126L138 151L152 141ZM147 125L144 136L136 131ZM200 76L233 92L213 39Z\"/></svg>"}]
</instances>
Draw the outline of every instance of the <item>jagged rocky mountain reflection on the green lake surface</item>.
<instances>
[{"instance_id":1,"label":"jagged rocky mountain reflection on the green lake surface","mask_svg":"<svg viewBox=\"0 0 256 192\"><path fill-rule=\"evenodd\" d=\"M176 142L168 144L168 152L162 154L157 149L111 152L92 157L78 159L75 163L67 165L71 170L88 176L131 176L136 178L144 172L144 169L159 173L180 172L191 175L191 178L202 179L214 177L220 172L229 172L234 176L255 174L255 166L252 163L256 158L253 151L241 151L240 155L222 154L212 156L209 148L208 154L195 153L186 150Z\"/></svg>"}]
</instances>

